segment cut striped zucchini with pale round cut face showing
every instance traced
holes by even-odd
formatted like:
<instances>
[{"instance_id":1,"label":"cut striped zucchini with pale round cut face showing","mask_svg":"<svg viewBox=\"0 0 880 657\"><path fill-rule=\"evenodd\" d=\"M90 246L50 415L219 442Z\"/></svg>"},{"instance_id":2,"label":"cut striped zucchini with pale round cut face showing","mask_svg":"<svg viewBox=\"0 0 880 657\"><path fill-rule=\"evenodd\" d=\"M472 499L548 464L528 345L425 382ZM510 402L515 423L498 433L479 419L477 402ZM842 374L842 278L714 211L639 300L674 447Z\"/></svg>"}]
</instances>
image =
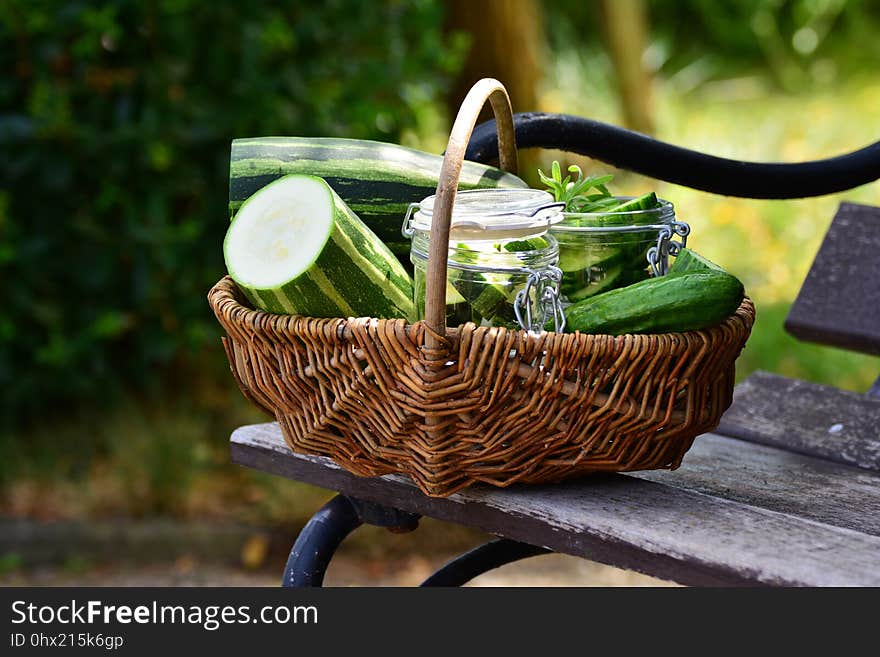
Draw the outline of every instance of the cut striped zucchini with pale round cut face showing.
<instances>
[{"instance_id":1,"label":"cut striped zucchini with pale round cut face showing","mask_svg":"<svg viewBox=\"0 0 880 657\"><path fill-rule=\"evenodd\" d=\"M223 255L261 310L415 319L412 279L322 178L292 174L252 194L226 232Z\"/></svg>"}]
</instances>

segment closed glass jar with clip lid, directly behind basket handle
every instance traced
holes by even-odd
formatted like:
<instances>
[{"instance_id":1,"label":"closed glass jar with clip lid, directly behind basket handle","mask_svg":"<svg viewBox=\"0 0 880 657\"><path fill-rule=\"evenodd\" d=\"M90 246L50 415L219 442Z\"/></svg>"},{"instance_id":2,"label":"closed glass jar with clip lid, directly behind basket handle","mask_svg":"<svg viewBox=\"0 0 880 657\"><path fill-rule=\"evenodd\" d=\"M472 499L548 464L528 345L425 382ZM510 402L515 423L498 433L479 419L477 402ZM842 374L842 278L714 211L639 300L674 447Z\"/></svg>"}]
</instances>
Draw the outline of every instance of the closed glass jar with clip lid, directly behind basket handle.
<instances>
[{"instance_id":1,"label":"closed glass jar with clip lid, directly behind basket handle","mask_svg":"<svg viewBox=\"0 0 880 657\"><path fill-rule=\"evenodd\" d=\"M415 304L425 316L434 196L410 206L403 233L412 239ZM446 324L540 332L565 325L559 300L559 247L548 228L562 204L535 189L458 192L452 208L446 278Z\"/></svg>"}]
</instances>

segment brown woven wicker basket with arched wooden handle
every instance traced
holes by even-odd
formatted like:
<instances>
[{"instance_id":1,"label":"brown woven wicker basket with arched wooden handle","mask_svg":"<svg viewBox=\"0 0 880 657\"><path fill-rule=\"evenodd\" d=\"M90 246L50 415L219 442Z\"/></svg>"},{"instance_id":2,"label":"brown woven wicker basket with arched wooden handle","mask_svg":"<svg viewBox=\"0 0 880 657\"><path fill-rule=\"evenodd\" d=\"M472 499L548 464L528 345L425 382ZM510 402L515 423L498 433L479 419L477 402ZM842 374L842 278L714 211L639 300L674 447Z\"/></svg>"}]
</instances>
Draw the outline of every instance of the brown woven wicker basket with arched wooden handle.
<instances>
[{"instance_id":1,"label":"brown woven wicker basket with arched wooden handle","mask_svg":"<svg viewBox=\"0 0 880 657\"><path fill-rule=\"evenodd\" d=\"M426 319L314 319L252 310L226 277L209 295L246 397L290 448L359 475L409 475L427 495L676 468L732 400L754 322L746 298L701 331L540 336L445 326L446 254L465 146L489 100L501 166L516 170L510 101L481 80L456 118L431 229Z\"/></svg>"}]
</instances>

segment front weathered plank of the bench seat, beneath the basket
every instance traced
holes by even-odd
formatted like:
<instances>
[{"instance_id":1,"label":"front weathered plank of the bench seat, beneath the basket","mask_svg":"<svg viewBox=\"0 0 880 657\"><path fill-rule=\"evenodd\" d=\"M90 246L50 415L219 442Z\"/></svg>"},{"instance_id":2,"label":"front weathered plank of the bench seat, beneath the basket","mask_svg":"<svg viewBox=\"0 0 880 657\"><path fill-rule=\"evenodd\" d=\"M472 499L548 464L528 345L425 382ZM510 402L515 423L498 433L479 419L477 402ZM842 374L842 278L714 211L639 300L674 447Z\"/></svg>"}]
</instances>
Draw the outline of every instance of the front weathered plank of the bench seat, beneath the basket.
<instances>
[{"instance_id":1,"label":"front weathered plank of the bench seat, beneath the basket","mask_svg":"<svg viewBox=\"0 0 880 657\"><path fill-rule=\"evenodd\" d=\"M610 475L555 486L475 486L430 498L405 477L357 477L329 459L292 454L274 423L238 429L232 456L266 472L683 584L880 585L877 536L687 490L680 481Z\"/></svg>"}]
</instances>

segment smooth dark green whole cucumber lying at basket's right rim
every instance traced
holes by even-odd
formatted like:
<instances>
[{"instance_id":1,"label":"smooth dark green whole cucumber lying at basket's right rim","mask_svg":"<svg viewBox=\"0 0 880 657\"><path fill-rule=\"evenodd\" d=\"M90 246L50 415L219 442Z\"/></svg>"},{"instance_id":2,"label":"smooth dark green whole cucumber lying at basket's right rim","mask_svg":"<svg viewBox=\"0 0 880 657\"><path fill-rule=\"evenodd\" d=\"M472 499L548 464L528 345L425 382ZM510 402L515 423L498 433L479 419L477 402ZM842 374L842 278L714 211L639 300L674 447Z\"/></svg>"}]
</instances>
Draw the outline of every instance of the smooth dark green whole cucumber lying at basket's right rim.
<instances>
[{"instance_id":1,"label":"smooth dark green whole cucumber lying at basket's right rim","mask_svg":"<svg viewBox=\"0 0 880 657\"><path fill-rule=\"evenodd\" d=\"M743 294L742 283L724 272L650 278L569 306L566 330L608 335L692 331L732 315Z\"/></svg>"}]
</instances>

